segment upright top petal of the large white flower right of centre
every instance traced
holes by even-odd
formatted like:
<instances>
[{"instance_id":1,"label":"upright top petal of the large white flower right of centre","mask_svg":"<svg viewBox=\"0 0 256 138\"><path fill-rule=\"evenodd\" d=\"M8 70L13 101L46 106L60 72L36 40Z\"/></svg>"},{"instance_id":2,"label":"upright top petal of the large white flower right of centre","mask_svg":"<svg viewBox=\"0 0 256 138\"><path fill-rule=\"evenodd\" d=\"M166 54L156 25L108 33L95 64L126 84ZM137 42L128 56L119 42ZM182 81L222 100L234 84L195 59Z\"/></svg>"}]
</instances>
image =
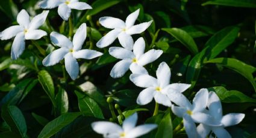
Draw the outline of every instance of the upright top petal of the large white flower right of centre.
<instances>
[{"instance_id":1,"label":"upright top petal of the large white flower right of centre","mask_svg":"<svg viewBox=\"0 0 256 138\"><path fill-rule=\"evenodd\" d=\"M166 62L161 62L157 68L157 80L160 87L164 88L170 84L170 68Z\"/></svg>"}]
</instances>

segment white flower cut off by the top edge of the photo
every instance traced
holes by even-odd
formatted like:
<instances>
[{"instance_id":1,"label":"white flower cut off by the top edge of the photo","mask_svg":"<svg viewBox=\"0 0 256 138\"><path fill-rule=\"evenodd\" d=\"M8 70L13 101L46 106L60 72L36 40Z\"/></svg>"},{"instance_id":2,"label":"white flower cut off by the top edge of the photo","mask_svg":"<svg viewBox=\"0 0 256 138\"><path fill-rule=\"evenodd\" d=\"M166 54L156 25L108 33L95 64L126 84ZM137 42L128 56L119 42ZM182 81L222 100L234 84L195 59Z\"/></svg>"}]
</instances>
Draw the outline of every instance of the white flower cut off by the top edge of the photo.
<instances>
[{"instance_id":1,"label":"white flower cut off by the top edge of the photo","mask_svg":"<svg viewBox=\"0 0 256 138\"><path fill-rule=\"evenodd\" d=\"M92 9L86 2L78 2L78 0L43 0L39 2L39 7L44 9L58 7L58 14L63 20L69 19L71 9Z\"/></svg>"}]
</instances>

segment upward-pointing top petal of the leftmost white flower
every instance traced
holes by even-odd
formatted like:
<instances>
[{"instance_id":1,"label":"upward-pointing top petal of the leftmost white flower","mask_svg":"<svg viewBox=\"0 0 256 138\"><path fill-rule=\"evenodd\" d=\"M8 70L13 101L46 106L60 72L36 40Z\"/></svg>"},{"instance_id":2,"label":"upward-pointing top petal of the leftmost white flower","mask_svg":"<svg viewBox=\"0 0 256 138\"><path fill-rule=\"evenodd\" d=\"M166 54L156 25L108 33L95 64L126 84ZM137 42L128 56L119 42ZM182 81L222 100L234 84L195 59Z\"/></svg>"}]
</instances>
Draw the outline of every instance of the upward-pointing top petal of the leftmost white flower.
<instances>
[{"instance_id":1,"label":"upward-pointing top petal of the leftmost white flower","mask_svg":"<svg viewBox=\"0 0 256 138\"><path fill-rule=\"evenodd\" d=\"M28 28L28 25L30 25L30 15L28 15L26 10L21 10L19 12L19 14L17 15L17 22L19 23L19 25Z\"/></svg>"}]
</instances>

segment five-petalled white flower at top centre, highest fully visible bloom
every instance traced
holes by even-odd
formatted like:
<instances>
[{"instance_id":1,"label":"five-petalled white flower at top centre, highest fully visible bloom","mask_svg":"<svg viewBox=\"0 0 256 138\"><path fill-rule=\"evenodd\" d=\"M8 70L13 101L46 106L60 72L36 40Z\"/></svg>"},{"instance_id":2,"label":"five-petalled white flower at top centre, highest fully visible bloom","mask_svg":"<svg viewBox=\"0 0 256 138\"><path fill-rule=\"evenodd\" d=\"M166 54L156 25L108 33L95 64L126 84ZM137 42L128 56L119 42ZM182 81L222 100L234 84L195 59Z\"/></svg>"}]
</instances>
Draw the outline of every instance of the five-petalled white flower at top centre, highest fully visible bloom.
<instances>
[{"instance_id":1,"label":"five-petalled white flower at top centre, highest fully visible bloom","mask_svg":"<svg viewBox=\"0 0 256 138\"><path fill-rule=\"evenodd\" d=\"M131 35L140 34L145 31L153 22L152 20L139 25L134 25L137 17L139 16L140 9L131 13L123 22L120 19L114 17L101 17L99 23L105 28L113 29L108 32L101 40L96 44L97 47L103 48L109 46L118 37L120 44L128 50L133 49L133 38Z\"/></svg>"}]
</instances>

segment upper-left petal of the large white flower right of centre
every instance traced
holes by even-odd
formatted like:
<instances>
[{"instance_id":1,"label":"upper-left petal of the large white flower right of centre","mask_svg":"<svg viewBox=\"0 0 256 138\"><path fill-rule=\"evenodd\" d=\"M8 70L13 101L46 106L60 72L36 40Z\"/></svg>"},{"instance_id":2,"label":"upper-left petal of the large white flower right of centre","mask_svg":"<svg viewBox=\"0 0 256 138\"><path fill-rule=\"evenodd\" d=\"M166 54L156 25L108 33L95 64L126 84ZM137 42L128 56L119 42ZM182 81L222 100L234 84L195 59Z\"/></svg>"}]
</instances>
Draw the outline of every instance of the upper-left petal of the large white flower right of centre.
<instances>
[{"instance_id":1,"label":"upper-left petal of the large white flower right of centre","mask_svg":"<svg viewBox=\"0 0 256 138\"><path fill-rule=\"evenodd\" d=\"M148 74L131 74L130 80L136 86L142 88L156 87L158 85L157 79L155 79L152 76L149 76Z\"/></svg>"}]
</instances>

